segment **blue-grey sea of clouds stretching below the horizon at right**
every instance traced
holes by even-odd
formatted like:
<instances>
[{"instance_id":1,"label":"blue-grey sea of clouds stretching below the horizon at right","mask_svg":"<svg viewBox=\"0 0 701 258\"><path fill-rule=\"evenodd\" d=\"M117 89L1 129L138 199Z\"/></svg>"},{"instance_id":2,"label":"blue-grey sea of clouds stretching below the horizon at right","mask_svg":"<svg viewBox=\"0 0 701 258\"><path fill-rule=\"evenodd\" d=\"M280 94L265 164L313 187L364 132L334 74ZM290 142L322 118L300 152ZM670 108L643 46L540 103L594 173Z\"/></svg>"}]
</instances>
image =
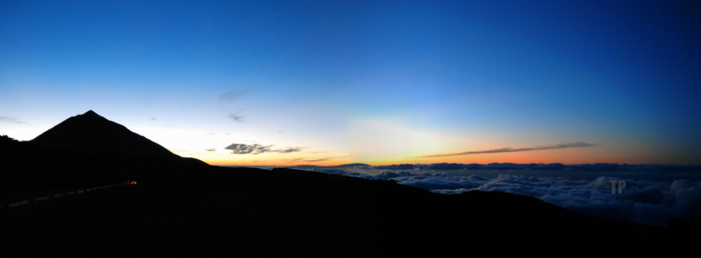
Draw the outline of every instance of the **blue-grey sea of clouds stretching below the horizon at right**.
<instances>
[{"instance_id":1,"label":"blue-grey sea of clouds stretching below the horizon at right","mask_svg":"<svg viewBox=\"0 0 701 258\"><path fill-rule=\"evenodd\" d=\"M700 166L402 164L295 169L395 180L440 194L473 189L510 192L585 215L648 225L666 226L675 218L690 220L699 215L701 206ZM625 187L619 186L620 180Z\"/></svg>"}]
</instances>

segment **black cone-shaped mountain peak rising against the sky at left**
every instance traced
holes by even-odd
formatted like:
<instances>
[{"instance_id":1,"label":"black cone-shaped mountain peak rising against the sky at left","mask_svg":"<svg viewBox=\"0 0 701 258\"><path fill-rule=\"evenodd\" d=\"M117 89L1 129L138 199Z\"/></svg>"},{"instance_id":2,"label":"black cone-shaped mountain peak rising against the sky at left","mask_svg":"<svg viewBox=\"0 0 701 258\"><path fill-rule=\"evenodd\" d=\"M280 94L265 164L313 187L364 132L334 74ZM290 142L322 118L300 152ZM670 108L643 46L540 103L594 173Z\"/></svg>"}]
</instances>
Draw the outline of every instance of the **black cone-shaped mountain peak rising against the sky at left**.
<instances>
[{"instance_id":1,"label":"black cone-shaped mountain peak rising against the sky at left","mask_svg":"<svg viewBox=\"0 0 701 258\"><path fill-rule=\"evenodd\" d=\"M179 157L123 125L97 115L93 110L70 117L29 142L88 154L122 152L144 157Z\"/></svg>"}]
</instances>

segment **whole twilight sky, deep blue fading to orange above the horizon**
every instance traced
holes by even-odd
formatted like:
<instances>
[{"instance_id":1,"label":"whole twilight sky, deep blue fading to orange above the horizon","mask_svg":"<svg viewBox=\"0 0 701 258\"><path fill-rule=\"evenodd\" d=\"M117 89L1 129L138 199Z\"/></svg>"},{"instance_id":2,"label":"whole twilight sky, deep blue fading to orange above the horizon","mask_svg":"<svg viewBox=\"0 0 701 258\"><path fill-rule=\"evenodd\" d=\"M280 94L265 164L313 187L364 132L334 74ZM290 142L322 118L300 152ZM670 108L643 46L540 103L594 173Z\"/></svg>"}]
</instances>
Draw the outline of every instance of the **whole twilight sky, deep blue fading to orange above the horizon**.
<instances>
[{"instance_id":1,"label":"whole twilight sky, deep blue fading to orange above the horizon","mask_svg":"<svg viewBox=\"0 0 701 258\"><path fill-rule=\"evenodd\" d=\"M0 134L94 110L216 165L701 164L698 1L203 2L0 1Z\"/></svg>"}]
</instances>

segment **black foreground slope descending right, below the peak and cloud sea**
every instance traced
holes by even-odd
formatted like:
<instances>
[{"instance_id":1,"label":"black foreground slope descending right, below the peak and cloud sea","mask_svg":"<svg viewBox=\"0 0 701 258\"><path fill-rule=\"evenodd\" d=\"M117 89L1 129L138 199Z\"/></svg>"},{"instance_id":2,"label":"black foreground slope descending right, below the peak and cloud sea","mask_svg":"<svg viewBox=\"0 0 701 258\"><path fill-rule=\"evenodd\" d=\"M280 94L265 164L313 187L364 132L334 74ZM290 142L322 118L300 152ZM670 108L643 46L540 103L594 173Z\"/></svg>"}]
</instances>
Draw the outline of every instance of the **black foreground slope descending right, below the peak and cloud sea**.
<instances>
[{"instance_id":1,"label":"black foreground slope descending right, below the peak and cloud sea","mask_svg":"<svg viewBox=\"0 0 701 258\"><path fill-rule=\"evenodd\" d=\"M587 217L501 192L442 195L290 169L210 166L182 173L11 217L0 221L0 238L8 254L100 257L683 247L670 241L679 238L669 229Z\"/></svg>"}]
</instances>

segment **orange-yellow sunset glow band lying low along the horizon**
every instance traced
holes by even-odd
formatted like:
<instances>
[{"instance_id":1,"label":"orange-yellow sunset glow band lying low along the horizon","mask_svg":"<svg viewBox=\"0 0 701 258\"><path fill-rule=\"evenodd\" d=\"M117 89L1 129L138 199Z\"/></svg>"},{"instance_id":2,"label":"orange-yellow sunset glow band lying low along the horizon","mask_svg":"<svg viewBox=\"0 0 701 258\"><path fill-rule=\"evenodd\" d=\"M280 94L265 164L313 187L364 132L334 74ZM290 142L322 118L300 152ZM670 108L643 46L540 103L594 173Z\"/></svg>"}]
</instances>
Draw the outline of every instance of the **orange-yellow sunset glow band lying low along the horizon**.
<instances>
[{"instance_id":1,"label":"orange-yellow sunset glow band lying low along the horizon","mask_svg":"<svg viewBox=\"0 0 701 258\"><path fill-rule=\"evenodd\" d=\"M489 144L494 145L494 144ZM505 145L498 143L497 145ZM529 146L516 146L515 148L529 148ZM399 153L399 152L377 152L374 155L353 155L338 159L328 159L323 161L313 161L320 157L308 157L305 153L296 155L250 155L234 156L226 159L219 156L216 159L202 159L204 162L214 166L339 166L343 164L361 163L370 166L384 166L392 164L437 164L437 163L458 163L458 164L491 164L491 163L515 163L515 164L595 164L595 163L616 163L616 164L674 164L678 161L665 159L653 155L647 145L635 145L628 143L601 144L583 148L560 148L553 150L527 150L519 152L495 152L479 153L472 155L444 155L439 157L423 157L428 155L442 155L450 153L461 153L471 150L496 150L489 146L473 146L467 150L453 147L453 150L430 150L429 153ZM634 149L635 152L625 151ZM343 152L329 157L346 156ZM311 155L310 155L311 156ZM418 157L416 157L418 156Z\"/></svg>"}]
</instances>

